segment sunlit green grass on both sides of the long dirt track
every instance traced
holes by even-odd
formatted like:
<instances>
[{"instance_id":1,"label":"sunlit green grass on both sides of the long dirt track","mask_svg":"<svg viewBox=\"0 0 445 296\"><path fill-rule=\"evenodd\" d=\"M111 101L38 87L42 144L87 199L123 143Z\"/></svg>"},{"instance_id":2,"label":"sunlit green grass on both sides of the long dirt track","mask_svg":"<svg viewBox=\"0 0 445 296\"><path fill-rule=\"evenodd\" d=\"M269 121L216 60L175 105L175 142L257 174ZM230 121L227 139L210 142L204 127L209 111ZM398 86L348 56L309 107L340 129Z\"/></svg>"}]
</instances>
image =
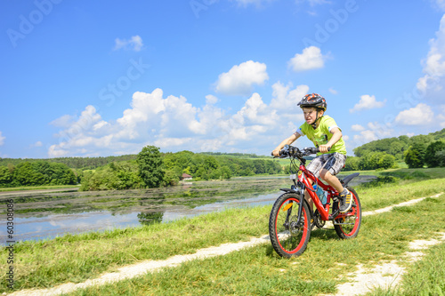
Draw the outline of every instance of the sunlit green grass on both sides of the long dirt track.
<instances>
[{"instance_id":1,"label":"sunlit green grass on both sides of the long dirt track","mask_svg":"<svg viewBox=\"0 0 445 296\"><path fill-rule=\"evenodd\" d=\"M441 176L441 172L430 173ZM400 183L356 188L363 211L445 191L443 177ZM166 224L22 242L15 245L14 288L80 283L142 260L164 260L213 245L247 241L267 233L270 211L271 206L230 209ZM427 198L418 206L364 218L359 237L351 241L339 240L334 231L318 230L313 233L308 250L297 259L282 260L270 244L264 244L76 294L331 293L336 291L336 284L345 280L341 276L352 272L358 263L372 265L401 258L408 251L409 241L443 231L443 212L445 195ZM2 262L6 262L5 250L1 256ZM0 292L8 291L4 284L5 268L0 265ZM336 276L332 277L333 274Z\"/></svg>"}]
</instances>

